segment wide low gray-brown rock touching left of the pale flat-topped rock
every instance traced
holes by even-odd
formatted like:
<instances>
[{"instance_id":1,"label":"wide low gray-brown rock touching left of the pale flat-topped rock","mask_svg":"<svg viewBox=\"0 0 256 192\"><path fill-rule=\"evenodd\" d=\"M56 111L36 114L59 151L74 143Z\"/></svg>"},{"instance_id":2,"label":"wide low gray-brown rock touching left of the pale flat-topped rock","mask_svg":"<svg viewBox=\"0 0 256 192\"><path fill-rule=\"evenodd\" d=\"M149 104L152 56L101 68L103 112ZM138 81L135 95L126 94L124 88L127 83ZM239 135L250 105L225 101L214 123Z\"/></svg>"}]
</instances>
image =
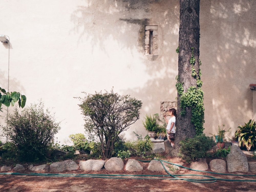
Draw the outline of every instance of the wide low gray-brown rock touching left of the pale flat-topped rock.
<instances>
[{"instance_id":1,"label":"wide low gray-brown rock touching left of the pale flat-topped rock","mask_svg":"<svg viewBox=\"0 0 256 192\"><path fill-rule=\"evenodd\" d=\"M76 170L78 169L78 167L79 166L74 161L66 160L66 161L52 163L50 165L49 170L54 172L62 172L65 170L69 170L69 171Z\"/></svg>"}]
</instances>

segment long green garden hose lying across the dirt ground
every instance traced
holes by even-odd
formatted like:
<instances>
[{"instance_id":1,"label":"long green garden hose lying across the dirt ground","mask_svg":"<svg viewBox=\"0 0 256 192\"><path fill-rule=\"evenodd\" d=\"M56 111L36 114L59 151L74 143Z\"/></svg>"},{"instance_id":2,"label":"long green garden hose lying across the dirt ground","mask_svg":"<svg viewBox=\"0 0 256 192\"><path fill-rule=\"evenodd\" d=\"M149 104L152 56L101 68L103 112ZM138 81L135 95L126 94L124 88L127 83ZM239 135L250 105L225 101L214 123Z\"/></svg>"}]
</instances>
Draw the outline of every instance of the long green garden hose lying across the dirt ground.
<instances>
[{"instance_id":1,"label":"long green garden hose lying across the dirt ground","mask_svg":"<svg viewBox=\"0 0 256 192\"><path fill-rule=\"evenodd\" d=\"M142 161L142 160L138 160ZM166 173L168 175L120 175L120 174L61 174L61 173L0 173L0 174L8 174L8 175L34 175L34 176L50 176L50 177L96 177L96 178L108 178L108 179L168 179L168 180L185 180L190 182L197 182L197 183L213 183L217 180L225 180L225 181L250 181L250 182L256 182L256 180L238 180L238 179L222 179L222 178L215 178L213 176L209 175L198 175L198 174L182 174L182 175L173 175L168 172L168 170L165 168L163 162L176 165L174 163L170 163L163 160L158 160L163 165ZM143 161L143 162L150 162L150 161ZM221 175L234 175L234 176L256 176L256 175L242 175L242 174L227 174L227 173L215 173L215 172L208 172L208 171L201 171L201 170L195 170L190 169L181 165L176 165L179 167L183 167L189 170L198 171L198 172L206 172L211 174L221 174ZM171 178L168 178L170 177ZM193 178L180 178L180 176L201 176L201 177L209 177L207 179L193 179Z\"/></svg>"}]
</instances>

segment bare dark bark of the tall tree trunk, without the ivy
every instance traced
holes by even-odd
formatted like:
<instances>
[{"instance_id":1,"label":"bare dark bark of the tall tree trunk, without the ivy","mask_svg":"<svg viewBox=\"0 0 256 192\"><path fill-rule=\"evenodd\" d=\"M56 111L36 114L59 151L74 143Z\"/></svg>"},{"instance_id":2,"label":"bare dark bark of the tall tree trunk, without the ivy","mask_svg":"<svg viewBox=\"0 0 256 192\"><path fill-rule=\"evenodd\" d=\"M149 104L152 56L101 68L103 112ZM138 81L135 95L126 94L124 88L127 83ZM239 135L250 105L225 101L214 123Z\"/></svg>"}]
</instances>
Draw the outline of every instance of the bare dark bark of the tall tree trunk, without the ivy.
<instances>
[{"instance_id":1,"label":"bare dark bark of the tall tree trunk, without the ivy","mask_svg":"<svg viewBox=\"0 0 256 192\"><path fill-rule=\"evenodd\" d=\"M180 25L179 25L179 60L178 75L182 82L183 92L191 86L197 87L199 77L199 2L200 0L180 0ZM194 49L191 49L191 48ZM192 76L192 65L190 58L194 51L195 76ZM191 123L191 107L185 108L185 115L181 115L183 109L180 107L180 95L178 93L178 110L176 123L175 147L173 155L179 150L179 142L186 137L192 138L196 135L196 129Z\"/></svg>"}]
</instances>

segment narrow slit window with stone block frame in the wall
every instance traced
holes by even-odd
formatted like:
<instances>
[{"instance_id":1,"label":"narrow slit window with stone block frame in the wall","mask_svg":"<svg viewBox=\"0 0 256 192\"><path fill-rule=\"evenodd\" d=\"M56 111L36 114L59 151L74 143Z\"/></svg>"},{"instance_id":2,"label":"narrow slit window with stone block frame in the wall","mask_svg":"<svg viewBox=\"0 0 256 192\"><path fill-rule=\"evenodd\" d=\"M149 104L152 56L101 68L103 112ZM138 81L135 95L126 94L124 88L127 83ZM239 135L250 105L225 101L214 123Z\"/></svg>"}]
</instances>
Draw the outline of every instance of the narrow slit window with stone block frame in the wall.
<instances>
[{"instance_id":1,"label":"narrow slit window with stone block frame in the wall","mask_svg":"<svg viewBox=\"0 0 256 192\"><path fill-rule=\"evenodd\" d=\"M145 26L145 55L158 55L158 26Z\"/></svg>"}]
</instances>

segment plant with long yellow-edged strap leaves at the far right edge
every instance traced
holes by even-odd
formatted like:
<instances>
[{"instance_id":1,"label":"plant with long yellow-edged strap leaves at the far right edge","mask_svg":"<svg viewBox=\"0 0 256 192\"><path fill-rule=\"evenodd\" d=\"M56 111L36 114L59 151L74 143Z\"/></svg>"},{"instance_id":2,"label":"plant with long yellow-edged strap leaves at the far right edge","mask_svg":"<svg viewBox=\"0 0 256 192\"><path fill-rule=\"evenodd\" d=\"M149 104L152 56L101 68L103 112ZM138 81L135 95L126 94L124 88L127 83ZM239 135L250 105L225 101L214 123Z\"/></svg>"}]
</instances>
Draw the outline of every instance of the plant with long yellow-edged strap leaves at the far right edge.
<instances>
[{"instance_id":1,"label":"plant with long yellow-edged strap leaves at the far right edge","mask_svg":"<svg viewBox=\"0 0 256 192\"><path fill-rule=\"evenodd\" d=\"M248 151L251 148L255 147L256 144L256 131L255 131L256 123L254 120L249 120L248 123L244 123L244 125L239 125L235 132L235 136L238 137L238 142L240 147L246 147Z\"/></svg>"}]
</instances>

